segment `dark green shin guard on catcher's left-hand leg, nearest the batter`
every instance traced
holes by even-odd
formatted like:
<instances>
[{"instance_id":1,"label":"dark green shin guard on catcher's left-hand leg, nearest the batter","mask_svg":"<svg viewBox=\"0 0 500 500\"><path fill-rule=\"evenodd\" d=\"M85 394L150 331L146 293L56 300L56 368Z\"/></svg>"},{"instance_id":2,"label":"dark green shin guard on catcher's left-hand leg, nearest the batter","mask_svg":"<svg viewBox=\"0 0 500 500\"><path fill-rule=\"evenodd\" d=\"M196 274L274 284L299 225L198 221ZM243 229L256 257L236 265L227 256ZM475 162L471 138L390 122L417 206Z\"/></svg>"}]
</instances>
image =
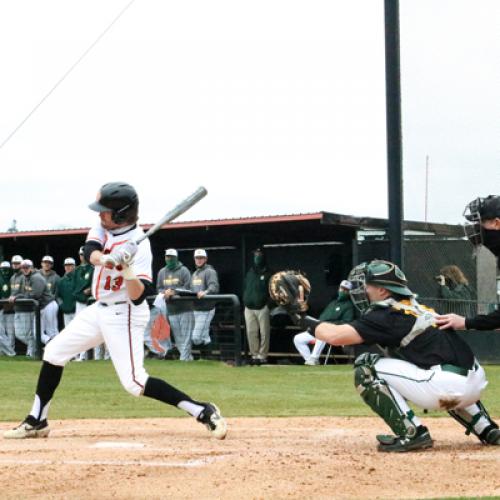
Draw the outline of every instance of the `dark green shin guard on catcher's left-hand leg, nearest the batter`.
<instances>
[{"instance_id":1,"label":"dark green shin guard on catcher's left-hand leg, nearest the batter","mask_svg":"<svg viewBox=\"0 0 500 500\"><path fill-rule=\"evenodd\" d=\"M396 436L412 438L417 433L417 426L413 422L414 413L411 410L404 412L385 380L378 378L374 365L379 359L378 354L371 353L356 358L354 385L364 402L384 419Z\"/></svg>"}]
</instances>

